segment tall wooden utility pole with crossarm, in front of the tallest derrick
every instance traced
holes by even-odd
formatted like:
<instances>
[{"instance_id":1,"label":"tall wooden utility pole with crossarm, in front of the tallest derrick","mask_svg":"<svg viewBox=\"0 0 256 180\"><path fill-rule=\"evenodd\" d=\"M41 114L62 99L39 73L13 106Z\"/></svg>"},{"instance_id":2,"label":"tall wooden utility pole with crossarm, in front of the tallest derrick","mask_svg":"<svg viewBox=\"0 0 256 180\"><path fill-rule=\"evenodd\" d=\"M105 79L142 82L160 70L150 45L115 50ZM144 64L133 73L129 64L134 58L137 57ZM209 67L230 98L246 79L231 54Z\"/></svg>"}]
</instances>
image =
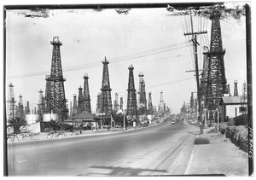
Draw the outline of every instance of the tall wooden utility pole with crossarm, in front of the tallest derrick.
<instances>
[{"instance_id":1,"label":"tall wooden utility pole with crossarm, in front of the tallest derrick","mask_svg":"<svg viewBox=\"0 0 256 180\"><path fill-rule=\"evenodd\" d=\"M200 91L200 81L199 81L199 70L198 70L198 55L197 55L197 45L200 45L197 42L197 36L203 33L207 33L207 31L203 32L194 32L193 31L193 19L190 14L191 21L191 32L184 33L184 36L192 35L191 41L193 43L193 51L195 55L195 76L196 76L196 86L197 86L197 100L198 100L198 110L199 110L199 122L200 122L200 132L203 133L202 130L202 114L201 114L201 91Z\"/></svg>"}]
</instances>

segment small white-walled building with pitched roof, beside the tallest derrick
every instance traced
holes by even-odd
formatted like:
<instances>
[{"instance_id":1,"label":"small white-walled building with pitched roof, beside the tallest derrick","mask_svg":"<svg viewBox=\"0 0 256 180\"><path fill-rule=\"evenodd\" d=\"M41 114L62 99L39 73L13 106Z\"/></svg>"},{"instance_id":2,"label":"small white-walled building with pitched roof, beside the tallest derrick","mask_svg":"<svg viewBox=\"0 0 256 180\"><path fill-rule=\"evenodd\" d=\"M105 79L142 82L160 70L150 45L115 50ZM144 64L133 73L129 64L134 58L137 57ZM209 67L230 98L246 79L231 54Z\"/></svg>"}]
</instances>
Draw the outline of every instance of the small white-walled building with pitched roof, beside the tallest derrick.
<instances>
[{"instance_id":1,"label":"small white-walled building with pitched roof, beside the tallest derrick","mask_svg":"<svg viewBox=\"0 0 256 180\"><path fill-rule=\"evenodd\" d=\"M223 96L220 105L224 119L236 118L242 113L247 113L247 101L244 102L241 96Z\"/></svg>"}]
</instances>

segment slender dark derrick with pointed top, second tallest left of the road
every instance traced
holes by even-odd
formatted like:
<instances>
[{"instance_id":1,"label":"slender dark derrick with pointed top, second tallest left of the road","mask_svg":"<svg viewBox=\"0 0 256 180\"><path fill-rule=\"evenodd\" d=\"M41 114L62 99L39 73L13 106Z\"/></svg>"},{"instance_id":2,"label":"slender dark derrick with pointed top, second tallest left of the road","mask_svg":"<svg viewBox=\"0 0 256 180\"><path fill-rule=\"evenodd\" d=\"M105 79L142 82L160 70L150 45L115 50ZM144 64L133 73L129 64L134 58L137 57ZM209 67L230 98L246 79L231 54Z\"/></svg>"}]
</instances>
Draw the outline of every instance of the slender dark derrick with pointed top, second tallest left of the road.
<instances>
[{"instance_id":1,"label":"slender dark derrick with pointed top, second tallest left of the road","mask_svg":"<svg viewBox=\"0 0 256 180\"><path fill-rule=\"evenodd\" d=\"M102 113L112 112L112 100L111 100L111 88L109 82L108 74L108 64L107 58L102 61L103 63L103 74L102 74Z\"/></svg>"}]
</instances>

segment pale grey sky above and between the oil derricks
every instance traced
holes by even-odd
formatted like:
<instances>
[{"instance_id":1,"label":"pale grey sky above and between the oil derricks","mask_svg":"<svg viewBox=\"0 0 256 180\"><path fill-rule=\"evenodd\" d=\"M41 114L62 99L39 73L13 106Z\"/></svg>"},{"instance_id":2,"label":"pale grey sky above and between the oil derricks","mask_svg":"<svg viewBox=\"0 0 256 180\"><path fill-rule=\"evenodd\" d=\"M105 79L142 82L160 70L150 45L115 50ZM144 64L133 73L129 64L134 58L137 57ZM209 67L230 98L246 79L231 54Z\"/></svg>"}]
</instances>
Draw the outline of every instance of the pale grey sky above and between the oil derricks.
<instances>
[{"instance_id":1,"label":"pale grey sky above and between the oil derricks","mask_svg":"<svg viewBox=\"0 0 256 180\"><path fill-rule=\"evenodd\" d=\"M189 16L173 16L166 9L131 9L126 15L115 9L54 9L49 17L25 17L29 10L8 10L6 13L6 92L14 84L15 100L23 96L23 104L37 107L38 91L45 91L45 75L49 75L53 37L60 37L61 64L67 104L73 94L84 86L84 73L88 73L91 108L96 111L96 96L102 85L102 61L107 57L112 101L117 92L127 103L128 67L134 67L135 87L138 74L143 72L146 93L152 92L153 105L160 104L160 91L172 113L179 113L183 102L189 102L196 91L194 57L188 30ZM211 35L211 21L194 17L194 28L204 23L207 35L198 38L199 66L202 68L202 46ZM187 22L187 23L186 23ZM231 94L234 80L238 80L238 93L246 80L245 17L241 20L221 20L225 74ZM137 96L138 97L138 96Z\"/></svg>"}]
</instances>

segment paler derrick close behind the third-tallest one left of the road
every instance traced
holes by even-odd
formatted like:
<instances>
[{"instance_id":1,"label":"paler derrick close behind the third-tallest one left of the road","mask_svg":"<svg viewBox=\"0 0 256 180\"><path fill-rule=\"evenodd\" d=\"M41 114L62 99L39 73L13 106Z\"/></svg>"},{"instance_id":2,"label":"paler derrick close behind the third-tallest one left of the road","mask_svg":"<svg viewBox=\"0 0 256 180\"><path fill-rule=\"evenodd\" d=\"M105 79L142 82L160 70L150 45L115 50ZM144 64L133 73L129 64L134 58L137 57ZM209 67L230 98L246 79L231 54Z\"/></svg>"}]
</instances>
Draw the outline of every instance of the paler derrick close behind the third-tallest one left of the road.
<instances>
[{"instance_id":1,"label":"paler derrick close behind the third-tallest one left of the road","mask_svg":"<svg viewBox=\"0 0 256 180\"><path fill-rule=\"evenodd\" d=\"M145 81L143 72L139 73L139 91L137 94L139 95L139 114L143 115L147 112L147 99L146 99L146 90L145 90Z\"/></svg>"}]
</instances>

